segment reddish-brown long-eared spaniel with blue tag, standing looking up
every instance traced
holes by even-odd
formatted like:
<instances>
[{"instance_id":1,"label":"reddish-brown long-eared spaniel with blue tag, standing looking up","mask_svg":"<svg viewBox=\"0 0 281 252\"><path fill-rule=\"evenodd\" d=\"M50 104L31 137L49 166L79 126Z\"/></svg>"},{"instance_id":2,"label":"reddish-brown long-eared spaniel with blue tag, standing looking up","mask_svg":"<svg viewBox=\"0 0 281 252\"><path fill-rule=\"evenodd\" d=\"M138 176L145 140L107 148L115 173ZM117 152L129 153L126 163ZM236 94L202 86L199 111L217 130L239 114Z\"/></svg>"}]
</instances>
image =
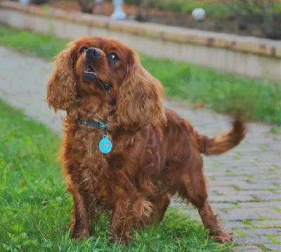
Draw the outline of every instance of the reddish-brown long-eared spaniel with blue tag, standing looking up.
<instances>
[{"instance_id":1,"label":"reddish-brown long-eared spaniel with blue tag, standing looking up","mask_svg":"<svg viewBox=\"0 0 281 252\"><path fill-rule=\"evenodd\" d=\"M235 120L233 130L210 139L164 108L163 94L138 55L116 40L82 37L58 54L46 101L67 111L62 159L73 238L89 237L102 209L112 210L112 241L126 243L133 227L162 220L169 197L178 194L215 239L232 240L207 201L200 153L237 146L244 124Z\"/></svg>"}]
</instances>

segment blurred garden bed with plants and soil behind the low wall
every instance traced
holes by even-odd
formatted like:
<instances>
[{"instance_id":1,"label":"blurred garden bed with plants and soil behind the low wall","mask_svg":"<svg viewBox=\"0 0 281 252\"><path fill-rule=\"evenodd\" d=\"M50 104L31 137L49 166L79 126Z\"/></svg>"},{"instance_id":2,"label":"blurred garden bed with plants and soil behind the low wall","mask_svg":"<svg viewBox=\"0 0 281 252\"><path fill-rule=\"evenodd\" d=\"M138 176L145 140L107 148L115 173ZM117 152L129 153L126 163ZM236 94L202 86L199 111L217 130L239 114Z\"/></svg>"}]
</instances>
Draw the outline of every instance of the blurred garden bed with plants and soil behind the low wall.
<instances>
[{"instance_id":1,"label":"blurred garden bed with plants and soil behind the low wall","mask_svg":"<svg viewBox=\"0 0 281 252\"><path fill-rule=\"evenodd\" d=\"M50 0L49 4L63 1L76 1L84 13L95 13L95 6L99 5L101 9L100 5L103 5L94 4L93 0ZM112 0L103 0L103 3L103 8L108 8ZM125 12L133 8L138 21L281 39L280 0L124 0L124 3ZM192 23L192 18L188 18L195 8L204 8L206 13L206 20L200 24ZM166 18L163 12L167 14ZM107 13L105 9L101 12Z\"/></svg>"}]
</instances>

